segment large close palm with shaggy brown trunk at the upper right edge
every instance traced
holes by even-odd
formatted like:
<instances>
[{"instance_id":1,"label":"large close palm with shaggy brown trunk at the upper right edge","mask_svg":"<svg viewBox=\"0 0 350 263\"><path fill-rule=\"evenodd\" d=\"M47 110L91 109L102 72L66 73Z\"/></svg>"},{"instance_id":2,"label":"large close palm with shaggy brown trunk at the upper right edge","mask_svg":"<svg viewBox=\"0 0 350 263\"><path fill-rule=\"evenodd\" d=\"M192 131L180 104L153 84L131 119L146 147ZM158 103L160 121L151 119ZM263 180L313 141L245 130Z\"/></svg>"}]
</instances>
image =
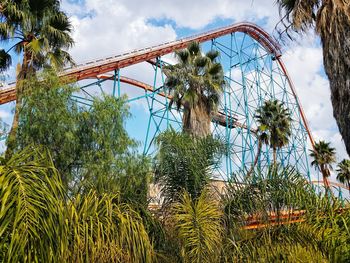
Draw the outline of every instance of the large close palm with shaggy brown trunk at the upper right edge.
<instances>
[{"instance_id":1,"label":"large close palm with shaggy brown trunk at the upper right edge","mask_svg":"<svg viewBox=\"0 0 350 263\"><path fill-rule=\"evenodd\" d=\"M277 0L288 28L315 27L321 37L323 60L330 81L333 114L350 153L350 8L346 0Z\"/></svg>"}]
</instances>

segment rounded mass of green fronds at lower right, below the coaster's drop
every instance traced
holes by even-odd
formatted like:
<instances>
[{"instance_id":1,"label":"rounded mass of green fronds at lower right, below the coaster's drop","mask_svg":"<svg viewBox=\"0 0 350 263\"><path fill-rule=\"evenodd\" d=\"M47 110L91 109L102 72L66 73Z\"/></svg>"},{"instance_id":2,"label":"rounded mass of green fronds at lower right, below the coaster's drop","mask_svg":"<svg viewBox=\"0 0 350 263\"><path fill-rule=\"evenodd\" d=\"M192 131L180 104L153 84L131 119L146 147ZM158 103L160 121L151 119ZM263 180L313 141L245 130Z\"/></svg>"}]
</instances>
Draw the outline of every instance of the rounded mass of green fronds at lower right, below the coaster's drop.
<instances>
[{"instance_id":1,"label":"rounded mass of green fronds at lower right, below the coaster's drop","mask_svg":"<svg viewBox=\"0 0 350 263\"><path fill-rule=\"evenodd\" d=\"M316 195L302 175L273 166L238 185L232 181L223 199L227 239L225 261L348 262L349 212L328 197ZM281 222L302 211L293 224ZM291 218L292 219L292 218ZM255 220L264 227L244 229Z\"/></svg>"}]
</instances>

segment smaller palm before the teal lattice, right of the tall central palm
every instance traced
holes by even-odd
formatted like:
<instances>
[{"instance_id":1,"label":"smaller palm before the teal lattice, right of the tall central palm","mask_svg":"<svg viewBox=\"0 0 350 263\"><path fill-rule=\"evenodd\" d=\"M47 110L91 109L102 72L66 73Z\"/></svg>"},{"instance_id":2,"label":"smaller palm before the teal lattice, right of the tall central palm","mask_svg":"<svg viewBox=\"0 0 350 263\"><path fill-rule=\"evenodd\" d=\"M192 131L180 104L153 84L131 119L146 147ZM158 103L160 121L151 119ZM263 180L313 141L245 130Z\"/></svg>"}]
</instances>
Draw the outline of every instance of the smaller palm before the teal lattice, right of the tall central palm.
<instances>
[{"instance_id":1,"label":"smaller palm before the teal lattice, right of the tall central palm","mask_svg":"<svg viewBox=\"0 0 350 263\"><path fill-rule=\"evenodd\" d=\"M265 101L255 114L258 126L258 150L253 168L256 166L263 143L273 149L273 163L277 162L277 149L289 142L291 135L291 114L283 102L276 99Z\"/></svg>"}]
</instances>

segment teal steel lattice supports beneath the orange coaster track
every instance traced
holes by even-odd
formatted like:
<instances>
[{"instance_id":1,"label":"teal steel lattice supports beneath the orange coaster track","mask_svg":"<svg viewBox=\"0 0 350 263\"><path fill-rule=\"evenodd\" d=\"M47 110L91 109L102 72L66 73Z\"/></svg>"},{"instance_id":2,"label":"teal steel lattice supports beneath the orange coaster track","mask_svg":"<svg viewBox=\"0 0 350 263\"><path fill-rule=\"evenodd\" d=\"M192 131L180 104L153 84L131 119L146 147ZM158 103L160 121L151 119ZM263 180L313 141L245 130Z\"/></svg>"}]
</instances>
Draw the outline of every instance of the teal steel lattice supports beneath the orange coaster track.
<instances>
[{"instance_id":1,"label":"teal steel lattice supports beneath the orange coaster track","mask_svg":"<svg viewBox=\"0 0 350 263\"><path fill-rule=\"evenodd\" d=\"M229 83L224 90L219 107L221 121L212 122L213 135L226 142L226 154L222 164L217 167L216 174L227 178L232 174L247 171L251 167L257 153L256 109L264 101L276 98L284 102L293 119L290 142L286 147L278 150L278 160L283 166L296 167L310 179L307 131L288 78L274 54L268 52L249 35L241 32L207 41L202 44L202 48L203 51L216 49L220 52L220 62ZM144 107L143 116L134 116L143 122L143 131L139 131L137 139L142 141L143 152L152 154L154 138L161 131L170 126L181 130L181 112L169 108L169 94L163 88L166 76L162 73L162 67L169 62L174 62L173 56L158 58L153 63L142 62L111 74L101 75L92 83L81 81L82 92L77 94L75 99L89 104L90 99L97 92L115 96L127 94L131 107L135 105ZM138 74L138 70L142 73ZM145 72L148 72L147 76ZM143 89L137 89L125 83L128 76L137 79L139 86L143 86ZM258 167L266 167L271 161L272 150L264 145Z\"/></svg>"}]
</instances>

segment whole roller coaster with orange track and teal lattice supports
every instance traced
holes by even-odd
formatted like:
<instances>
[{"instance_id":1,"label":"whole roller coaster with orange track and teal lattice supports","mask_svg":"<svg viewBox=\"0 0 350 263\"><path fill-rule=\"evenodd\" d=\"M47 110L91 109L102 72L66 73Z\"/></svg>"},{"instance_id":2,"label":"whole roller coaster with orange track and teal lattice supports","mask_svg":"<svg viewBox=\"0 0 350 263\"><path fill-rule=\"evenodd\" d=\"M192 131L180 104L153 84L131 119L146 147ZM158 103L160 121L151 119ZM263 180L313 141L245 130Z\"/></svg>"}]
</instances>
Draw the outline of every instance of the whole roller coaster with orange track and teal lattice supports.
<instances>
[{"instance_id":1,"label":"whole roller coaster with orange track and teal lattice supports","mask_svg":"<svg viewBox=\"0 0 350 263\"><path fill-rule=\"evenodd\" d=\"M238 176L251 167L257 153L257 123L254 115L264 101L278 99L292 115L292 134L289 144L277 152L282 166L293 166L318 189L323 183L311 175L308 149L314 140L297 96L293 82L282 61L279 44L257 25L237 23L198 35L157 46L133 50L117 56L89 61L66 68L60 73L80 87L72 97L83 105L91 105L98 94L116 97L127 94L131 108L137 109L136 126L143 142L143 153L152 154L154 138L170 126L181 129L181 112L169 107L171 95L164 89L166 79L163 66L172 63L174 51L198 41L204 50L220 52L220 62L229 85L225 88L218 112L212 116L213 136L226 143L223 161L215 169L215 176ZM16 99L16 83L0 90L0 104ZM142 115L142 116L141 116ZM264 146L257 168L272 161L272 150ZM331 185L335 185L331 183ZM348 190L336 184L338 196ZM297 219L296 219L297 220Z\"/></svg>"}]
</instances>

